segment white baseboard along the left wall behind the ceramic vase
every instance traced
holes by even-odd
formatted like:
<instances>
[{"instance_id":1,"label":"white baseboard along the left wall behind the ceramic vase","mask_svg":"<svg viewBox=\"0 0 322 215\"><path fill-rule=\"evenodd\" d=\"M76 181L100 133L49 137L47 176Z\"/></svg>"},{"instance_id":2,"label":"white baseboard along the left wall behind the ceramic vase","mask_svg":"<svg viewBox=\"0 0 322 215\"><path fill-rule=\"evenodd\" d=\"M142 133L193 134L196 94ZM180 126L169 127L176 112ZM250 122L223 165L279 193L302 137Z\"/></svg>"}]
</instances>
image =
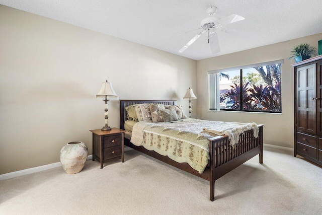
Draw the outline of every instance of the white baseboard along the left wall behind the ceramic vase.
<instances>
[{"instance_id":1,"label":"white baseboard along the left wall behind the ceramic vase","mask_svg":"<svg viewBox=\"0 0 322 215\"><path fill-rule=\"evenodd\" d=\"M91 160L92 158L93 158L93 156L89 155L87 157L87 160ZM15 178L18 176L28 175L31 173L36 173L36 172L40 172L40 171L44 171L44 170L49 170L49 169L60 167L60 166L61 166L61 163L57 162L57 163L47 164L47 165L40 166L40 167L33 167L33 168L25 169L25 170L19 170L16 172L10 172L10 173L0 175L0 181L10 179L10 178Z\"/></svg>"}]
</instances>

